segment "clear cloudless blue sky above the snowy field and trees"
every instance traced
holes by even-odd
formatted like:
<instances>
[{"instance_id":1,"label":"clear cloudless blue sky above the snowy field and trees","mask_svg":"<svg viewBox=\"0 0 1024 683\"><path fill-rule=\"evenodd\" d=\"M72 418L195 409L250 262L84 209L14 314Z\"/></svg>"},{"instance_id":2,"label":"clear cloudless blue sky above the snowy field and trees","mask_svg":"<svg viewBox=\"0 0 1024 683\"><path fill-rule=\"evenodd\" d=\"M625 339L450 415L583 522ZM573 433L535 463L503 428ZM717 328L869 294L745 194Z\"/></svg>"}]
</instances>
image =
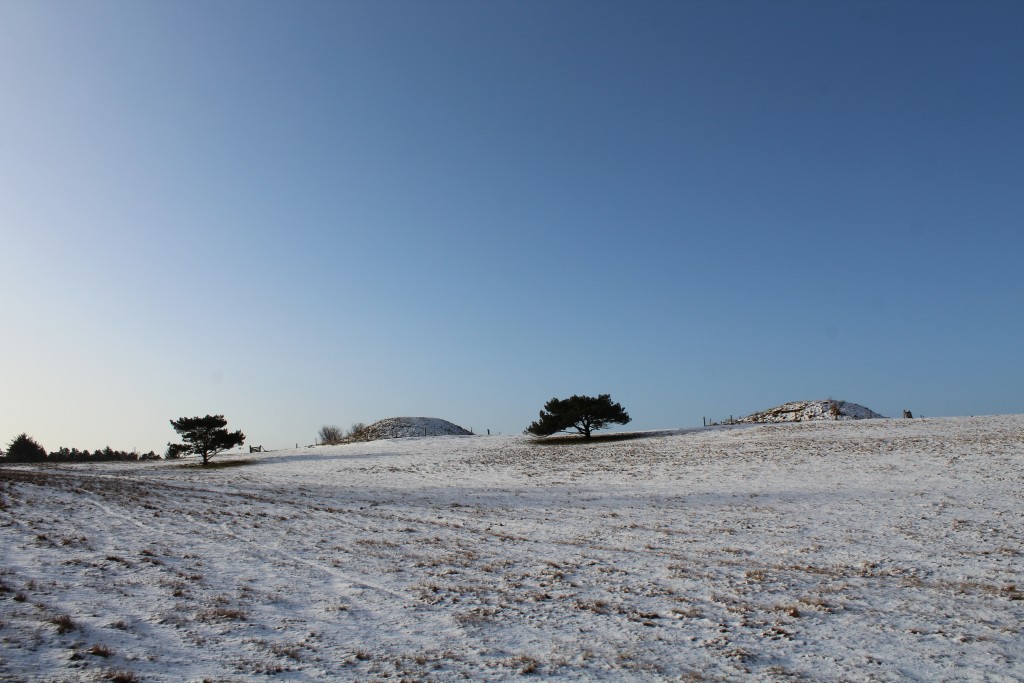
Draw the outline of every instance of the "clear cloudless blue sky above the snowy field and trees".
<instances>
[{"instance_id":1,"label":"clear cloudless blue sky above the snowy field and trees","mask_svg":"<svg viewBox=\"0 0 1024 683\"><path fill-rule=\"evenodd\" d=\"M1024 411L1024 4L0 4L0 440Z\"/></svg>"}]
</instances>

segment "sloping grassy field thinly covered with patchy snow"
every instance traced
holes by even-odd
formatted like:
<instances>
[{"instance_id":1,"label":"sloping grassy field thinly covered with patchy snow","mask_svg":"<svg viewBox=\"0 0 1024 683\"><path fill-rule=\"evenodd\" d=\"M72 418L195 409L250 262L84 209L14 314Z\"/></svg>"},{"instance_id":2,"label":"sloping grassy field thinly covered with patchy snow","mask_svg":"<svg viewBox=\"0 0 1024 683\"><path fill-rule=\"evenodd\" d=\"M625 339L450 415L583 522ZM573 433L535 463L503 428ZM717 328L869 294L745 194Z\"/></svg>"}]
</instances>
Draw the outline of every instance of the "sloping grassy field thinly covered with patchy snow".
<instances>
[{"instance_id":1,"label":"sloping grassy field thinly covered with patchy snow","mask_svg":"<svg viewBox=\"0 0 1024 683\"><path fill-rule=\"evenodd\" d=\"M0 680L1024 680L1024 416L222 459L0 469Z\"/></svg>"}]
</instances>

